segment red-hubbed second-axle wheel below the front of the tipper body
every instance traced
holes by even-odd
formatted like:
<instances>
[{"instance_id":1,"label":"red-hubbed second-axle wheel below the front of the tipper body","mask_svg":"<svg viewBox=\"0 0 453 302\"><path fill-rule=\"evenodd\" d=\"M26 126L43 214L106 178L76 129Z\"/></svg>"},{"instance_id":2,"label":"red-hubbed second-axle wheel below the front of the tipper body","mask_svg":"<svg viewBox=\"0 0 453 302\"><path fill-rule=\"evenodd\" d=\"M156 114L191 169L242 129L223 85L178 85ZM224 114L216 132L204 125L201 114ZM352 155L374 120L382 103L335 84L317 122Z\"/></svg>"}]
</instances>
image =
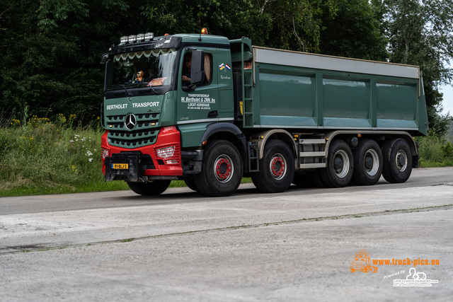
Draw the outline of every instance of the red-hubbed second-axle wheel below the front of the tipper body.
<instances>
[{"instance_id":1,"label":"red-hubbed second-axle wheel below the front of the tipper body","mask_svg":"<svg viewBox=\"0 0 453 302\"><path fill-rule=\"evenodd\" d=\"M260 172L251 173L253 185L265 193L283 192L294 178L294 156L283 141L273 139L264 146Z\"/></svg>"}]
</instances>

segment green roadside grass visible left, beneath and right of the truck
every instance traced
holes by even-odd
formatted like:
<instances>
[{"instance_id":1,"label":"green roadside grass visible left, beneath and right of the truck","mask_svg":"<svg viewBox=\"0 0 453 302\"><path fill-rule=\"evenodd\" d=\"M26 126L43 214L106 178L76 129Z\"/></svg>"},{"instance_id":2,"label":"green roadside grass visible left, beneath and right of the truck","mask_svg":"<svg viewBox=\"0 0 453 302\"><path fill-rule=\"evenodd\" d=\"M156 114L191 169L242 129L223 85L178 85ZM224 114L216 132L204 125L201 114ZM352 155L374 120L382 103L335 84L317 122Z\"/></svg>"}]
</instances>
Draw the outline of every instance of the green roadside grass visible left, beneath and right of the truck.
<instances>
[{"instance_id":1,"label":"green roadside grass visible left, beneath and right of the truck","mask_svg":"<svg viewBox=\"0 0 453 302\"><path fill-rule=\"evenodd\" d=\"M64 121L32 117L25 125L0 127L0 197L129 190L126 182L105 182L98 127L72 129ZM93 129L95 128L95 129ZM420 137L420 167L453 166L453 146ZM243 178L242 182L251 182ZM170 187L185 187L182 180Z\"/></svg>"}]
</instances>

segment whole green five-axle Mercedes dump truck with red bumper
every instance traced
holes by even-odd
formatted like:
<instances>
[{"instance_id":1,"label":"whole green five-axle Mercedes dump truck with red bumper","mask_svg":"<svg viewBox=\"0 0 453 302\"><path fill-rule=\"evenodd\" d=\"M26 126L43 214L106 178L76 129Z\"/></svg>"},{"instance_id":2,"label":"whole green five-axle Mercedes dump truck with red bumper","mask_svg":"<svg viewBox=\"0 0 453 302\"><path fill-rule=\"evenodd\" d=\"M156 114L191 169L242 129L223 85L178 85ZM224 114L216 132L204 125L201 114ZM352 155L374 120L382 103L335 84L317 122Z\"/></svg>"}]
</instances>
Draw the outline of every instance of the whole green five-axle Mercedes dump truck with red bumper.
<instances>
[{"instance_id":1,"label":"whole green five-axle Mercedes dump truck with red bumper","mask_svg":"<svg viewBox=\"0 0 453 302\"><path fill-rule=\"evenodd\" d=\"M101 63L103 173L137 194L405 182L428 131L418 66L153 33L121 37Z\"/></svg>"}]
</instances>

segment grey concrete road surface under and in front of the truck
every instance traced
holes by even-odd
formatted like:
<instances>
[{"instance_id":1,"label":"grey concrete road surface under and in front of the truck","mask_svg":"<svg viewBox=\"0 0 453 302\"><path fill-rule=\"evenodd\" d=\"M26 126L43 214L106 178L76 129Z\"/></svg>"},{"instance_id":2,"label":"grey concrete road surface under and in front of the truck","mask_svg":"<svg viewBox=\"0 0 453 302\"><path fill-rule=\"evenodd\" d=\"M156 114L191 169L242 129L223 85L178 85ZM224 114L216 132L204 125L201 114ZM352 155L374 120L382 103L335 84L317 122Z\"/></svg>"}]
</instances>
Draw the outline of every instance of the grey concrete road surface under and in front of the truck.
<instances>
[{"instance_id":1,"label":"grey concrete road surface under and in front of the truck","mask_svg":"<svg viewBox=\"0 0 453 302\"><path fill-rule=\"evenodd\" d=\"M452 213L453 168L216 199L0 198L0 301L452 301Z\"/></svg>"}]
</instances>

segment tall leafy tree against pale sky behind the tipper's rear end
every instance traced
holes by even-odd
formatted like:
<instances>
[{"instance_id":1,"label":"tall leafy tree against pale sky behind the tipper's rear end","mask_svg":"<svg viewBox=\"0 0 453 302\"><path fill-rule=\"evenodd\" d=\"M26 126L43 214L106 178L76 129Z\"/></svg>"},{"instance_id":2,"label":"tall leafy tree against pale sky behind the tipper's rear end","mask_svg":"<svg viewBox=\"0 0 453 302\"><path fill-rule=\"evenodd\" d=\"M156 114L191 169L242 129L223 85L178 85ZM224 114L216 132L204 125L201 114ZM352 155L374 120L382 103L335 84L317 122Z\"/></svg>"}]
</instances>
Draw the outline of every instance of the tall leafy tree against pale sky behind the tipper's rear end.
<instances>
[{"instance_id":1,"label":"tall leafy tree against pale sky behind the tipper's rear end","mask_svg":"<svg viewBox=\"0 0 453 302\"><path fill-rule=\"evenodd\" d=\"M384 0L384 25L390 62L419 65L423 71L430 127L446 133L442 83L451 83L453 58L452 0Z\"/></svg>"}]
</instances>

